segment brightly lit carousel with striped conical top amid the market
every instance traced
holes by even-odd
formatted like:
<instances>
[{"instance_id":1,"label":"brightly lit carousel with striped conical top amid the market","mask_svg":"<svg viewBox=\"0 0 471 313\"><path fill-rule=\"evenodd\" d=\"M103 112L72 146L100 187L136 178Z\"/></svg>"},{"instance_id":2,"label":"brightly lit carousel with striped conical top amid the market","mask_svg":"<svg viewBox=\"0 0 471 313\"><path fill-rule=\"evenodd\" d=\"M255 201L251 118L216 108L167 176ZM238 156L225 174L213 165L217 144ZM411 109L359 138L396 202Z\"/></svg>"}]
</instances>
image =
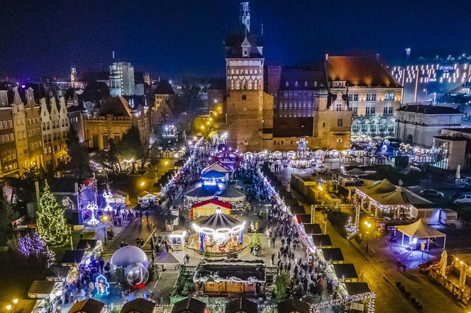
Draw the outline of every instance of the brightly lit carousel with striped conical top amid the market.
<instances>
[{"instance_id":1,"label":"brightly lit carousel with striped conical top amid the market","mask_svg":"<svg viewBox=\"0 0 471 313\"><path fill-rule=\"evenodd\" d=\"M235 220L216 209L213 215L193 224L196 234L188 242L192 242L191 248L201 254L230 254L247 246L244 244L248 241L244 240L244 227L245 222Z\"/></svg>"}]
</instances>

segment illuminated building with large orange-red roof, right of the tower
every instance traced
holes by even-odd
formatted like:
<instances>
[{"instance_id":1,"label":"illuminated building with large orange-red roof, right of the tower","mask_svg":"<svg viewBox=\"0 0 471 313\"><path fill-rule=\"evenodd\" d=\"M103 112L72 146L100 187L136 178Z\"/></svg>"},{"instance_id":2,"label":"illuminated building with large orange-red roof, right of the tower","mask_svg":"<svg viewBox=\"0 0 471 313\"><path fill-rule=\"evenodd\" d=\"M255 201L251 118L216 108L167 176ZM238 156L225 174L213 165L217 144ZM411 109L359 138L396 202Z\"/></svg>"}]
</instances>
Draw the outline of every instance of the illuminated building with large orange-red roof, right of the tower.
<instances>
[{"instance_id":1,"label":"illuminated building with large orange-red roof, right of the tower","mask_svg":"<svg viewBox=\"0 0 471 313\"><path fill-rule=\"evenodd\" d=\"M352 135L394 135L394 115L402 101L402 87L372 57L326 55L329 91L348 97L353 111Z\"/></svg>"}]
</instances>

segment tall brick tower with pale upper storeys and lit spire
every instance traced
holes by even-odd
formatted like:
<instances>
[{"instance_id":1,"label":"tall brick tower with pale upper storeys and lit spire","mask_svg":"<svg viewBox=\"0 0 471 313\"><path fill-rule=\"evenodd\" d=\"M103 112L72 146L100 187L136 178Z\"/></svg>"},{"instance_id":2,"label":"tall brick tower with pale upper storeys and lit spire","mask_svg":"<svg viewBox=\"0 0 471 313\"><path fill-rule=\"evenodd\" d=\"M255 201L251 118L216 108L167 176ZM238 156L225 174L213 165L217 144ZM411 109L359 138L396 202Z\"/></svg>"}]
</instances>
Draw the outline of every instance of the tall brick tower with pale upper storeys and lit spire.
<instances>
[{"instance_id":1,"label":"tall brick tower with pale upper storeys and lit spire","mask_svg":"<svg viewBox=\"0 0 471 313\"><path fill-rule=\"evenodd\" d=\"M263 62L262 40L250 33L248 2L240 3L243 29L226 41L228 144L238 151L262 149ZM268 96L268 95L267 95Z\"/></svg>"}]
</instances>

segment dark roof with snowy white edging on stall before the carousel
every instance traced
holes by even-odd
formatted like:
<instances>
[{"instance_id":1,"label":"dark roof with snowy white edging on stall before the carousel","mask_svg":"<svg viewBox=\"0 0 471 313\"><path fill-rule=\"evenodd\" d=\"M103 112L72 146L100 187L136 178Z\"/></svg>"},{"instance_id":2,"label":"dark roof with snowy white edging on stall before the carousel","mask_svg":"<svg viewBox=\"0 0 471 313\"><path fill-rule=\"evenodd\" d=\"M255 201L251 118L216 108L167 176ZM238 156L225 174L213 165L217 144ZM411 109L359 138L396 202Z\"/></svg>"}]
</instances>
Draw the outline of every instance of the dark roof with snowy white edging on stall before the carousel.
<instances>
[{"instance_id":1,"label":"dark roof with snowy white edging on stall before the carousel","mask_svg":"<svg viewBox=\"0 0 471 313\"><path fill-rule=\"evenodd\" d=\"M228 260L225 258L201 261L193 276L194 283L206 281L233 283L265 283L263 260Z\"/></svg>"}]
</instances>

